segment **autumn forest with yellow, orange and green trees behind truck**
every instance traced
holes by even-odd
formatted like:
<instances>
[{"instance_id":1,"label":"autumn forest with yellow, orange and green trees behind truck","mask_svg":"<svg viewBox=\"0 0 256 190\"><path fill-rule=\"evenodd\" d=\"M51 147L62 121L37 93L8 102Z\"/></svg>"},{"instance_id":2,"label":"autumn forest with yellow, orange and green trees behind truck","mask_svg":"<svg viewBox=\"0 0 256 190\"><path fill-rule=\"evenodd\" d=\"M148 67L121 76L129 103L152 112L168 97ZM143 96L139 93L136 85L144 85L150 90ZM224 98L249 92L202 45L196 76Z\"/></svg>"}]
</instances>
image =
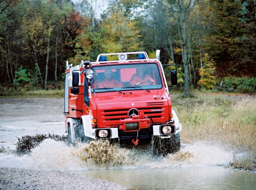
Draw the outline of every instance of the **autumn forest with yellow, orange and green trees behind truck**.
<instances>
[{"instance_id":1,"label":"autumn forest with yellow, orange and green trees behind truck","mask_svg":"<svg viewBox=\"0 0 256 190\"><path fill-rule=\"evenodd\" d=\"M142 50L155 58L156 49L163 64L177 64L185 96L256 92L255 0L99 3L0 0L0 95L63 88L67 60Z\"/></svg>"}]
</instances>

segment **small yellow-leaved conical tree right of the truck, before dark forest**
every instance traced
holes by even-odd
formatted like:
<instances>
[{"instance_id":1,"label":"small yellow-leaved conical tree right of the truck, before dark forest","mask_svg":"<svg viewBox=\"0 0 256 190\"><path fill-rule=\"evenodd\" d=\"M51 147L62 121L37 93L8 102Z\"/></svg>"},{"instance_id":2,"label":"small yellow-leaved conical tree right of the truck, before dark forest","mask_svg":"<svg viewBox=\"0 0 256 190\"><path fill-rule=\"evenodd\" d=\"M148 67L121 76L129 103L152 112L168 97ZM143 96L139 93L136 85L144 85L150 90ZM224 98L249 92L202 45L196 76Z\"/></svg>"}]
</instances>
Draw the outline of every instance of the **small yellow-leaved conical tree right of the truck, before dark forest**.
<instances>
[{"instance_id":1,"label":"small yellow-leaved conical tree right of the truck, before dark forest","mask_svg":"<svg viewBox=\"0 0 256 190\"><path fill-rule=\"evenodd\" d=\"M203 57L204 67L200 68L200 80L198 85L206 89L212 89L216 83L215 63L206 53Z\"/></svg>"}]
</instances>

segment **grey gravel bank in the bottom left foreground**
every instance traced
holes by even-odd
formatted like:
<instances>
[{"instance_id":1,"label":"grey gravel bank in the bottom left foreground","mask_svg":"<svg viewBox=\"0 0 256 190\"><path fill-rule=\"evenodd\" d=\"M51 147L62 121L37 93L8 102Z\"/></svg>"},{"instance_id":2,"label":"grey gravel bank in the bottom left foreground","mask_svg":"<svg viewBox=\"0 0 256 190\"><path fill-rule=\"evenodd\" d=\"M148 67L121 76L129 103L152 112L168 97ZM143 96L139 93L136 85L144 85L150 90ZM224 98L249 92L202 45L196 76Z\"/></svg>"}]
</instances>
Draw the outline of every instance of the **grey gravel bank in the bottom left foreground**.
<instances>
[{"instance_id":1,"label":"grey gravel bank in the bottom left foreground","mask_svg":"<svg viewBox=\"0 0 256 190\"><path fill-rule=\"evenodd\" d=\"M0 168L0 189L124 189L110 181L57 171Z\"/></svg>"}]
</instances>

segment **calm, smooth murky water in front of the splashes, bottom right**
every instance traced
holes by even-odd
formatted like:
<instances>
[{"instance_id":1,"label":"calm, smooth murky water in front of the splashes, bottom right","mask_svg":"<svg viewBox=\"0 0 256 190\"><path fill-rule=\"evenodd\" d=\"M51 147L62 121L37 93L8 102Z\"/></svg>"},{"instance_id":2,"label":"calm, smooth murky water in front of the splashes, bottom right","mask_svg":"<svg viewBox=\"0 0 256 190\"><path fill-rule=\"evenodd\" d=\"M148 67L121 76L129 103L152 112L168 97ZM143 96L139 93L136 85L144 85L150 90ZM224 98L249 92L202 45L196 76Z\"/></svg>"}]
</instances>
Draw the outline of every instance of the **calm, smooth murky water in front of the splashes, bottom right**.
<instances>
[{"instance_id":1,"label":"calm, smooth murky water in front of the splashes, bottom right","mask_svg":"<svg viewBox=\"0 0 256 190\"><path fill-rule=\"evenodd\" d=\"M223 167L118 169L77 172L132 189L255 189L255 174Z\"/></svg>"}]
</instances>

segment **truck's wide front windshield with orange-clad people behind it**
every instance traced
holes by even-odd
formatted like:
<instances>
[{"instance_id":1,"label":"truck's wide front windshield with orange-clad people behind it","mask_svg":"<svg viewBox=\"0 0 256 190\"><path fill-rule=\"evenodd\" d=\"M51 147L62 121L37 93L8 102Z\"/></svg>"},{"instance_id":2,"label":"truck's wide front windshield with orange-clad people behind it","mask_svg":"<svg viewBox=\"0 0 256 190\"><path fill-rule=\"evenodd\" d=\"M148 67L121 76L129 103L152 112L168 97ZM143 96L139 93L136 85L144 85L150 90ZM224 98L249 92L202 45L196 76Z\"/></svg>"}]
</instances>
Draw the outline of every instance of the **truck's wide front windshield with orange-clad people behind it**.
<instances>
[{"instance_id":1,"label":"truck's wide front windshield with orange-clad people behind it","mask_svg":"<svg viewBox=\"0 0 256 190\"><path fill-rule=\"evenodd\" d=\"M94 72L91 88L95 93L162 88L162 80L156 63L95 65L91 69Z\"/></svg>"}]
</instances>

